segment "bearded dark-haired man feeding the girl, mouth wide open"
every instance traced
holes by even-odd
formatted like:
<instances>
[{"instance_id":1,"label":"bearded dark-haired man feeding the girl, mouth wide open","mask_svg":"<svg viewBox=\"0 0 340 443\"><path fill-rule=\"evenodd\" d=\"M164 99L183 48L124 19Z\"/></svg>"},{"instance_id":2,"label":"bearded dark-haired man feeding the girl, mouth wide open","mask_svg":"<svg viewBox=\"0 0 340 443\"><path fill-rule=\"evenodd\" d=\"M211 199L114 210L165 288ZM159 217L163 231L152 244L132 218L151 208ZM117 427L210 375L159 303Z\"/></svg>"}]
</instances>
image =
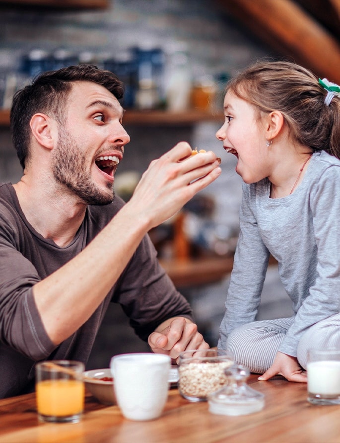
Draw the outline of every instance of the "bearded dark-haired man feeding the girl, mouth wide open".
<instances>
[{"instance_id":1,"label":"bearded dark-haired man feeding the girl, mouth wide open","mask_svg":"<svg viewBox=\"0 0 340 443\"><path fill-rule=\"evenodd\" d=\"M212 152L178 143L124 204L114 175L130 137L122 83L79 65L17 92L13 145L24 173L0 186L0 397L34 388L43 359L86 363L110 301L153 352L208 348L146 236L215 180Z\"/></svg>"}]
</instances>

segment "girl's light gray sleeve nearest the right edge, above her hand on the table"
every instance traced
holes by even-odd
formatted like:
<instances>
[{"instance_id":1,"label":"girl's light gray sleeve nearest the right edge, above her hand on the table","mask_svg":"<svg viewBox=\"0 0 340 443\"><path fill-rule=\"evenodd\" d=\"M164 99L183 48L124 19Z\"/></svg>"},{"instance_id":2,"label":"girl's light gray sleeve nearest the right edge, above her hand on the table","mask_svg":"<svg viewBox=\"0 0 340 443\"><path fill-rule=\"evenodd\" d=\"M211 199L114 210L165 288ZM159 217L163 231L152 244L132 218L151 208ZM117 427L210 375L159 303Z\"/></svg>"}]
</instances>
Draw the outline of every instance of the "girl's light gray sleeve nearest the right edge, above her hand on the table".
<instances>
[{"instance_id":1,"label":"girl's light gray sleeve nearest the right edge, above her hand on the table","mask_svg":"<svg viewBox=\"0 0 340 443\"><path fill-rule=\"evenodd\" d=\"M317 245L316 272L309 277L312 282L309 293L279 347L284 354L296 356L298 343L307 329L340 312L339 182L340 168L330 167L310 193L312 226Z\"/></svg>"}]
</instances>

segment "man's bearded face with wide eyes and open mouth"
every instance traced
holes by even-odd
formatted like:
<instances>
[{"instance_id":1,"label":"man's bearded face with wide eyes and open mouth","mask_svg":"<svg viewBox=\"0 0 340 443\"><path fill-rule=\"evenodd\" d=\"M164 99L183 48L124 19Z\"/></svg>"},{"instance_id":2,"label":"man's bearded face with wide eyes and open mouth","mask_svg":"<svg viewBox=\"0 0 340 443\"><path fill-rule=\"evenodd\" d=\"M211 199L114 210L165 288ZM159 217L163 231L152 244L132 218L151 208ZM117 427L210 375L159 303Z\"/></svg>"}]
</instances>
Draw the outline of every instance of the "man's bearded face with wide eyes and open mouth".
<instances>
[{"instance_id":1,"label":"man's bearded face with wide eyes and open mouth","mask_svg":"<svg viewBox=\"0 0 340 443\"><path fill-rule=\"evenodd\" d=\"M123 109L104 87L76 82L52 151L53 175L85 204L114 198L114 174L130 137L122 126Z\"/></svg>"}]
</instances>

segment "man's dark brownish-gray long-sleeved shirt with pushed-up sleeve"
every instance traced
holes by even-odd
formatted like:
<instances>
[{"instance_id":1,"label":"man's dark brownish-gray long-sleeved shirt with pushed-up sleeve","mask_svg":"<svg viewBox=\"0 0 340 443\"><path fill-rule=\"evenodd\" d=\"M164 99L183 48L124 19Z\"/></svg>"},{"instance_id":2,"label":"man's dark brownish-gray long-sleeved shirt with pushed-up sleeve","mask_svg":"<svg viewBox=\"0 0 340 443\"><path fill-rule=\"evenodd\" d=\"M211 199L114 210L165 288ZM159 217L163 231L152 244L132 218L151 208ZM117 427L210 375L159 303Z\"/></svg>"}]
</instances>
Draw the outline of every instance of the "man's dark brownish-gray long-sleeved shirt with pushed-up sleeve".
<instances>
[{"instance_id":1,"label":"man's dark brownish-gray long-sleeved shirt with pushed-up sleeve","mask_svg":"<svg viewBox=\"0 0 340 443\"><path fill-rule=\"evenodd\" d=\"M88 206L73 241L61 248L28 223L13 186L0 184L0 398L33 390L35 361L86 363L110 301L121 304L136 334L145 341L164 320L176 315L191 318L188 302L159 266L145 236L117 283L81 328L57 347L46 334L32 286L84 249L123 204L116 197L107 206Z\"/></svg>"}]
</instances>

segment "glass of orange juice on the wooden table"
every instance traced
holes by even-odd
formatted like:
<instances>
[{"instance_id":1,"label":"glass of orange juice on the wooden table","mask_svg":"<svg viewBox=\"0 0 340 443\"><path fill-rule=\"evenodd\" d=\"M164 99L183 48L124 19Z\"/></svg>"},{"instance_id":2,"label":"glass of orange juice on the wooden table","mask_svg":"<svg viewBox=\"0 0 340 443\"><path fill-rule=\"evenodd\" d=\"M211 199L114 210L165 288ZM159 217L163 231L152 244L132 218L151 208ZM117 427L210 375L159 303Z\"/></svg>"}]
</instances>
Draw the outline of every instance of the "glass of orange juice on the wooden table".
<instances>
[{"instance_id":1,"label":"glass of orange juice on the wooden table","mask_svg":"<svg viewBox=\"0 0 340 443\"><path fill-rule=\"evenodd\" d=\"M42 422L77 423L84 410L84 363L41 361L36 365L36 400Z\"/></svg>"}]
</instances>

